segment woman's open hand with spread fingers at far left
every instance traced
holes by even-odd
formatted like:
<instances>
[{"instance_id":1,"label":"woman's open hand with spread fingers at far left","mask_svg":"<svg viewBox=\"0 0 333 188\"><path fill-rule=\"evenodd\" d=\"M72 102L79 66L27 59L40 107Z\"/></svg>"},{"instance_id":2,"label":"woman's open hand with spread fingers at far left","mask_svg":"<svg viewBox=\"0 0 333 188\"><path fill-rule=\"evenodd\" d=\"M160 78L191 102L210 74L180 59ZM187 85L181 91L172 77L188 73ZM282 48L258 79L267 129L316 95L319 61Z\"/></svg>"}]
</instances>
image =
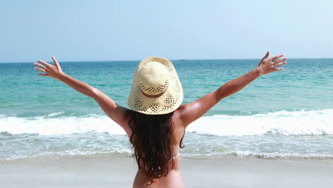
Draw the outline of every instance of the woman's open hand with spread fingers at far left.
<instances>
[{"instance_id":1,"label":"woman's open hand with spread fingers at far left","mask_svg":"<svg viewBox=\"0 0 333 188\"><path fill-rule=\"evenodd\" d=\"M45 73L45 74L38 73L38 75L49 76L51 78L59 80L60 76L63 75L63 71L61 70L59 63L54 56L52 56L52 60L54 62L54 66L41 60L38 60L38 63L33 63L33 65L40 67L40 68L35 67L37 71Z\"/></svg>"}]
</instances>

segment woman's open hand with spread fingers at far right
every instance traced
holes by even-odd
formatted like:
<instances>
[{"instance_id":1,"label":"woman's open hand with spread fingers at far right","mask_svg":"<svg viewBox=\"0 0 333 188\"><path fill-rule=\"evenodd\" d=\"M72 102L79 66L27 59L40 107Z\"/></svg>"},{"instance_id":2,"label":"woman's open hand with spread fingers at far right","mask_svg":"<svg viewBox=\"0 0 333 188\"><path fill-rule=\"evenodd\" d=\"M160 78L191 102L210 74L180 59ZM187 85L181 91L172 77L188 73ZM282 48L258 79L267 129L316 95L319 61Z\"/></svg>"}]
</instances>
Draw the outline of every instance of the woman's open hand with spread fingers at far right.
<instances>
[{"instance_id":1,"label":"woman's open hand with spread fingers at far right","mask_svg":"<svg viewBox=\"0 0 333 188\"><path fill-rule=\"evenodd\" d=\"M284 55L280 54L277 56L274 56L273 58L268 58L270 56L270 52L268 51L263 57L263 59L260 61L257 70L260 75L265 75L268 73L273 73L275 71L282 71L284 68L277 68L278 66L285 65L287 63L287 58L282 58Z\"/></svg>"}]
</instances>

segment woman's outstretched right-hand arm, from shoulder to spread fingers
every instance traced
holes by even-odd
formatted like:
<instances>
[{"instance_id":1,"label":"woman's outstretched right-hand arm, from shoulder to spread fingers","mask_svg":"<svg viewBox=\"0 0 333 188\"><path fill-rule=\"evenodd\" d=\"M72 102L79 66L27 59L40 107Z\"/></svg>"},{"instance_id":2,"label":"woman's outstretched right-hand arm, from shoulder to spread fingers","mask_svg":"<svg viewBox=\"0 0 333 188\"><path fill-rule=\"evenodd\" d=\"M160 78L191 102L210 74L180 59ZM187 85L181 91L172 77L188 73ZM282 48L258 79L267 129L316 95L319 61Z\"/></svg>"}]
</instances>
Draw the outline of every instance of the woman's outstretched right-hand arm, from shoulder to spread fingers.
<instances>
[{"instance_id":1,"label":"woman's outstretched right-hand arm, from shoulder to spread fingers","mask_svg":"<svg viewBox=\"0 0 333 188\"><path fill-rule=\"evenodd\" d=\"M282 58L283 55L274 56L273 58L268 58L269 52L266 53L265 57L260 61L258 67L246 73L239 78L229 81L228 83L222 85L218 90L204 95L199 100L194 103L187 103L181 105L180 109L180 119L184 127L187 127L191 122L198 119L204 115L209 109L211 109L216 103L218 103L223 98L237 93L239 90L243 89L246 85L251 83L253 80L258 78L260 75L265 75L268 73L273 73L275 71L282 71L283 68L277 68L278 66L285 65L287 63L287 58Z\"/></svg>"}]
</instances>

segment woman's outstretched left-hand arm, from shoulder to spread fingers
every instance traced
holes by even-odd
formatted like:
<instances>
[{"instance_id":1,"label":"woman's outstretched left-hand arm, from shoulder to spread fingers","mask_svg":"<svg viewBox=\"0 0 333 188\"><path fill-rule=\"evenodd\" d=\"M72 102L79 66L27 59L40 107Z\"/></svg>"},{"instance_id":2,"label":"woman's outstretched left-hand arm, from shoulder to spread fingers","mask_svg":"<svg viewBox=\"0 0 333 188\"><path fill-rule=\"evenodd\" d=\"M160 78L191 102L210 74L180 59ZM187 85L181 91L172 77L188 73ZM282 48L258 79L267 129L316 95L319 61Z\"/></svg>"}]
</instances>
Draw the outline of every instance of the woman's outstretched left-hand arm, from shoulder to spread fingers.
<instances>
[{"instance_id":1,"label":"woman's outstretched left-hand arm, from shoulder to spread fingers","mask_svg":"<svg viewBox=\"0 0 333 188\"><path fill-rule=\"evenodd\" d=\"M33 63L33 65L39 67L35 67L35 69L42 72L38 73L38 75L48 76L56 80L60 80L61 82L77 90L78 92L95 99L95 101L100 105L102 110L104 110L104 112L112 120L114 120L122 128L124 128L127 134L130 132L127 122L125 121L127 108L123 108L122 106L117 105L117 103L115 103L115 101L105 95L105 93L102 93L100 90L93 88L93 86L88 85L87 83L83 83L80 80L75 80L69 75L66 75L61 70L59 63L54 56L52 57L52 60L54 62L54 66L41 60L38 60L38 63Z\"/></svg>"}]
</instances>

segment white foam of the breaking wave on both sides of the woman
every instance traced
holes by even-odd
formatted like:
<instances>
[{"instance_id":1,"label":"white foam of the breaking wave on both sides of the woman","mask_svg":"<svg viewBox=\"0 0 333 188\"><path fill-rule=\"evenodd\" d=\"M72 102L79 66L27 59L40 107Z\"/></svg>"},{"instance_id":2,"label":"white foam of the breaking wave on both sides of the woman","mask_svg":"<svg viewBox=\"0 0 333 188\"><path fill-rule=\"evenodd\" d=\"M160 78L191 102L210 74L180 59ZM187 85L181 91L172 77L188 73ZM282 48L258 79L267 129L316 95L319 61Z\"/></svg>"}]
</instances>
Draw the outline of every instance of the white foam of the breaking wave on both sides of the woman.
<instances>
[{"instance_id":1,"label":"white foam of the breaking wave on both sides of the woman","mask_svg":"<svg viewBox=\"0 0 333 188\"><path fill-rule=\"evenodd\" d=\"M126 134L122 127L105 115L56 117L61 114L63 112L41 117L1 115L0 132L13 135L64 135L83 132ZM261 135L268 132L282 135L329 135L333 134L333 109L204 116L189 125L186 131L216 136Z\"/></svg>"}]
</instances>

